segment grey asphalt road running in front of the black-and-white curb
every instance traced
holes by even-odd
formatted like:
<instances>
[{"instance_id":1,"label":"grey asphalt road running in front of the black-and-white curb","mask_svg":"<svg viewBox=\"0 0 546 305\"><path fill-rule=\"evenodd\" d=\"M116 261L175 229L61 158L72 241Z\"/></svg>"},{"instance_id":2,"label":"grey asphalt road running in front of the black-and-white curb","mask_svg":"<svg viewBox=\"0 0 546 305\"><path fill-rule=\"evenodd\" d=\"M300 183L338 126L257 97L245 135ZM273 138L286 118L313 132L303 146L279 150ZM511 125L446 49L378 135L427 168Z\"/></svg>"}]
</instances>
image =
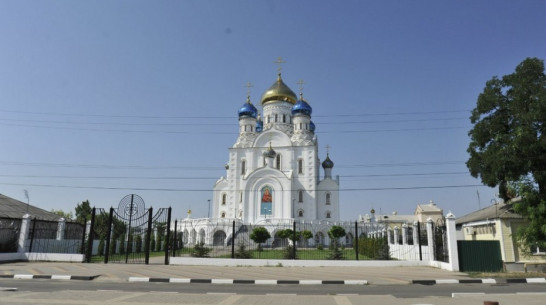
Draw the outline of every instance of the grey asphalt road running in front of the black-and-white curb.
<instances>
[{"instance_id":1,"label":"grey asphalt road running in front of the black-and-white curb","mask_svg":"<svg viewBox=\"0 0 546 305\"><path fill-rule=\"evenodd\" d=\"M248 285L124 283L57 280L0 280L0 287L20 292L118 291L238 295L391 295L396 298L452 297L453 294L544 294L544 284L439 284L439 285ZM9 291L4 291L7 293ZM0 301L0 304L3 304Z\"/></svg>"}]
</instances>

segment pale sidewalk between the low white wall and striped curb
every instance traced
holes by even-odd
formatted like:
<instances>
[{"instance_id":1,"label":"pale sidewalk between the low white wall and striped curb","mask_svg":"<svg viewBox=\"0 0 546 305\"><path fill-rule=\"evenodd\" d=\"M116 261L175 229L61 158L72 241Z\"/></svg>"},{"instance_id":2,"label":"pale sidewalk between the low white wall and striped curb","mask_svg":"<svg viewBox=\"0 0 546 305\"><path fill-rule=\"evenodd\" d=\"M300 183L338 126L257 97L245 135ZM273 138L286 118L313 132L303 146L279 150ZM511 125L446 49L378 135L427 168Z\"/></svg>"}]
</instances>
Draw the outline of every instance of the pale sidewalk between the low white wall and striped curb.
<instances>
[{"instance_id":1,"label":"pale sidewalk between the low white wall and striped curb","mask_svg":"<svg viewBox=\"0 0 546 305\"><path fill-rule=\"evenodd\" d=\"M84 264L17 262L0 264L0 277L52 278L94 281L169 281L229 283L259 281L259 283L332 284L347 281L352 284L407 285L413 281L470 280L465 273L432 267L226 267L139 264ZM191 281L190 281L191 280ZM172 281L172 280L171 280ZM318 281L321 281L319 283ZM346 283L347 284L347 283Z\"/></svg>"}]
</instances>

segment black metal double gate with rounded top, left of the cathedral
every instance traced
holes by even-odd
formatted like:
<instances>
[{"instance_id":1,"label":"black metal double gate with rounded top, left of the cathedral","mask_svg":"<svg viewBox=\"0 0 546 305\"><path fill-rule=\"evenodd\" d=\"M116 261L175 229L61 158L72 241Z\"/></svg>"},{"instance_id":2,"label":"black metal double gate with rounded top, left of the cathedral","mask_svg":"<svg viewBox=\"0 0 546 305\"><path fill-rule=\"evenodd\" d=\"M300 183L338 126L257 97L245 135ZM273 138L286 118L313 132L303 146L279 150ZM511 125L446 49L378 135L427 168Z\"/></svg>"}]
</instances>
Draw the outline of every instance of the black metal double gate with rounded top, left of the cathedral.
<instances>
[{"instance_id":1,"label":"black metal double gate with rounded top, left of the cathedral","mask_svg":"<svg viewBox=\"0 0 546 305\"><path fill-rule=\"evenodd\" d=\"M172 241L176 240L170 223L171 208L154 213L135 194L125 196L109 213L93 208L86 261L168 265Z\"/></svg>"}]
</instances>

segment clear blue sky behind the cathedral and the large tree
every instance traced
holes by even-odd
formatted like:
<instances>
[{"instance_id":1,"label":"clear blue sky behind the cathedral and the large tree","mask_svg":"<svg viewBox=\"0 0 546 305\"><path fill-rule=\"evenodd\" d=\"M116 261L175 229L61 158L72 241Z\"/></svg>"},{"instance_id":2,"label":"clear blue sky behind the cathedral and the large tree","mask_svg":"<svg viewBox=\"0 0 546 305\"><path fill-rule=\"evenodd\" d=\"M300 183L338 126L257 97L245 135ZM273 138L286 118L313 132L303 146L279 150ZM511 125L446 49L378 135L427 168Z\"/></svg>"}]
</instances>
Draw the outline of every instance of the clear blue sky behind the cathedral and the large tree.
<instances>
[{"instance_id":1,"label":"clear blue sky behind the cathedral and the large tree","mask_svg":"<svg viewBox=\"0 0 546 305\"><path fill-rule=\"evenodd\" d=\"M0 193L46 210L127 194L205 217L238 132L276 80L313 107L343 220L496 190L468 173L485 82L546 58L545 1L1 1ZM258 107L261 109L261 107ZM478 196L479 194L479 196Z\"/></svg>"}]
</instances>

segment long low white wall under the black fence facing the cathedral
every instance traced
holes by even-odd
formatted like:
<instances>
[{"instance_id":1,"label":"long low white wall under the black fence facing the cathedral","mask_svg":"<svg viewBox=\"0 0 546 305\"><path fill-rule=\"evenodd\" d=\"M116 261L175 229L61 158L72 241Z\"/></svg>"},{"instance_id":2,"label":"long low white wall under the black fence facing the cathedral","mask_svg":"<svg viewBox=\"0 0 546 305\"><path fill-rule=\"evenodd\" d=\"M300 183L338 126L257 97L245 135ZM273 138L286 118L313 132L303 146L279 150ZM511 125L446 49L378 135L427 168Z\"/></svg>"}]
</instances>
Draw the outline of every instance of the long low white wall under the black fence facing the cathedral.
<instances>
[{"instance_id":1,"label":"long low white wall under the black fence facing the cathedral","mask_svg":"<svg viewBox=\"0 0 546 305\"><path fill-rule=\"evenodd\" d=\"M429 261L346 261L346 260L266 260L266 259L229 259L171 257L170 265L189 266L284 266L284 267L415 267L431 266Z\"/></svg>"}]
</instances>

